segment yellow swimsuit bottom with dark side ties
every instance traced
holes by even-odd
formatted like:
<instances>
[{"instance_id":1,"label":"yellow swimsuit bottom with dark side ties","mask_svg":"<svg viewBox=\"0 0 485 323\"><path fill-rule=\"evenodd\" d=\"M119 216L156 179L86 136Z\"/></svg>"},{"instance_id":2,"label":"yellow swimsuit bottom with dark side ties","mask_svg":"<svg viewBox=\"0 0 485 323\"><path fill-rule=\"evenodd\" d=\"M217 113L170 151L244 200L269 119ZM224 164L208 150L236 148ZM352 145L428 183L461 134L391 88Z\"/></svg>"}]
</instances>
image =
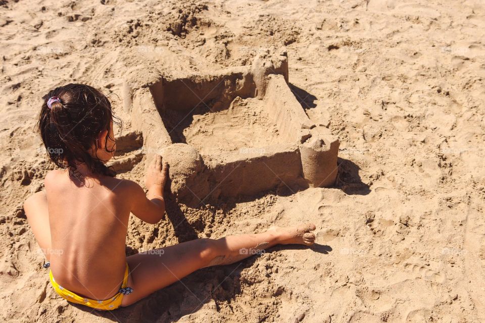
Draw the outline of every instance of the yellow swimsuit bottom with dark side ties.
<instances>
[{"instance_id":1,"label":"yellow swimsuit bottom with dark side ties","mask_svg":"<svg viewBox=\"0 0 485 323\"><path fill-rule=\"evenodd\" d=\"M51 283L52 283L52 286L54 287L54 290L62 298L68 300L69 302L86 305L95 309L101 309L101 310L117 309L118 307L121 306L121 300L123 299L123 295L128 295L131 292L133 292L131 287L126 287L126 283L128 281L128 263L126 264L125 276L123 277L123 283L121 284L121 288L118 291L118 294L105 300L97 300L97 299L81 297L71 291L68 291L67 289L65 289L58 283L56 283L56 280L52 276L52 271L49 271L49 277L51 278Z\"/></svg>"}]
</instances>

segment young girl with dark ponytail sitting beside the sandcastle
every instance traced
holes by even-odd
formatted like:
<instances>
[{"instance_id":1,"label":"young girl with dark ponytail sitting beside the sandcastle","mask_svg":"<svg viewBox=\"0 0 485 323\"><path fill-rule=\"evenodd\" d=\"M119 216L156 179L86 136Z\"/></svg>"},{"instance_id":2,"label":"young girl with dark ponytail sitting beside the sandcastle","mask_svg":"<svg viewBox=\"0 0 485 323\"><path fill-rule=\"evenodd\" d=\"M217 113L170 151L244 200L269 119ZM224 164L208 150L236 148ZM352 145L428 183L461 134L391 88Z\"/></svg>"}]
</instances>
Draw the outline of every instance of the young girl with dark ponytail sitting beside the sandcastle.
<instances>
[{"instance_id":1,"label":"young girl with dark ponytail sitting beside the sandcastle","mask_svg":"<svg viewBox=\"0 0 485 323\"><path fill-rule=\"evenodd\" d=\"M156 156L145 186L115 178L113 112L108 98L83 84L43 97L38 127L59 166L45 190L24 203L35 239L50 261L50 279L66 300L101 310L128 306L199 268L244 259L276 244L312 245L313 224L273 227L265 233L197 239L152 252L125 255L130 213L156 224L165 213L167 164ZM115 117L115 122L117 121ZM48 265L48 263L46 263ZM46 266L44 265L44 266Z\"/></svg>"}]
</instances>

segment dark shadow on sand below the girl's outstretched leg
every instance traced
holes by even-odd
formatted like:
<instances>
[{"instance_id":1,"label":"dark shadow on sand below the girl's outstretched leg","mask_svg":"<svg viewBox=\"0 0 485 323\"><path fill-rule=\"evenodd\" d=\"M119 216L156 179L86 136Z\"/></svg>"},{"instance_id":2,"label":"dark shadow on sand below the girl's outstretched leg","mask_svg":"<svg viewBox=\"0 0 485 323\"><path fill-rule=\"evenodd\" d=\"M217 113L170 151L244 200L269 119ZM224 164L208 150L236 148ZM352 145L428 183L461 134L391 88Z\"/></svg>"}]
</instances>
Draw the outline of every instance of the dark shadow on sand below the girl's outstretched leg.
<instances>
[{"instance_id":1,"label":"dark shadow on sand below the girl's outstretched leg","mask_svg":"<svg viewBox=\"0 0 485 323\"><path fill-rule=\"evenodd\" d=\"M280 250L310 249L314 252L328 254L332 248L327 245L314 244L311 247L299 245L275 246L266 251L272 253ZM225 265L203 268L177 283L174 283L152 295L127 307L114 311L97 311L79 304L72 306L114 322L174 322L181 317L197 312L204 304L214 302L216 310L230 303L241 291L241 272L253 266L259 255L242 261Z\"/></svg>"}]
</instances>

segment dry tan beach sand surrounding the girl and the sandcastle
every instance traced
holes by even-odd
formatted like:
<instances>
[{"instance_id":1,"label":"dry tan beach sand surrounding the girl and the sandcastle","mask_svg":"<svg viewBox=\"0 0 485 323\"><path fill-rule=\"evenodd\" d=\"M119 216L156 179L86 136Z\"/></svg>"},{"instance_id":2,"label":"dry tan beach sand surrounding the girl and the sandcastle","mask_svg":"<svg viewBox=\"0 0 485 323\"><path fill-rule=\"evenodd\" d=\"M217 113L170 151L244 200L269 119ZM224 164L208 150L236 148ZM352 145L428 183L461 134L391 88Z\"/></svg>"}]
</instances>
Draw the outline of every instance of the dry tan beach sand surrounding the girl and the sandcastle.
<instances>
[{"instance_id":1,"label":"dry tan beach sand surrounding the girl and the sandcastle","mask_svg":"<svg viewBox=\"0 0 485 323\"><path fill-rule=\"evenodd\" d=\"M3 321L485 321L482 1L0 5ZM170 200L171 222L131 220L127 253L300 221L316 224L319 245L207 268L111 313L68 305L22 210L53 168L32 131L41 96L69 82L113 93L130 157L120 177L141 182L124 80L137 88L164 73L247 65L270 46L286 46L296 97L341 140L336 187L199 208ZM203 139L192 133L202 151L214 148Z\"/></svg>"}]
</instances>

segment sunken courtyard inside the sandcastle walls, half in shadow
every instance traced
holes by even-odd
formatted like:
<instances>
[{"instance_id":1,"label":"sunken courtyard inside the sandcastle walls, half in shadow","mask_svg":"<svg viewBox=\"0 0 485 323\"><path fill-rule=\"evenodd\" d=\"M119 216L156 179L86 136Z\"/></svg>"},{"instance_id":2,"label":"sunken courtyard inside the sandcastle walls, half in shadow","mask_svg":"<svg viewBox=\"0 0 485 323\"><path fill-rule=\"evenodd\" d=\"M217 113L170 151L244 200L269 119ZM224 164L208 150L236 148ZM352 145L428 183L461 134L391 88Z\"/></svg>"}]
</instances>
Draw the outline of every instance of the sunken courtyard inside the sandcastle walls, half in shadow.
<instances>
[{"instance_id":1,"label":"sunken courtyard inside the sandcastle walls, half in shadow","mask_svg":"<svg viewBox=\"0 0 485 323\"><path fill-rule=\"evenodd\" d=\"M173 142L189 144L203 156L218 152L258 148L284 143L264 109L264 101L252 97L254 88L235 90L244 82L232 75L216 80L162 80L152 87L157 109ZM252 93L251 93L252 92ZM263 149L261 149L263 150Z\"/></svg>"}]
</instances>

